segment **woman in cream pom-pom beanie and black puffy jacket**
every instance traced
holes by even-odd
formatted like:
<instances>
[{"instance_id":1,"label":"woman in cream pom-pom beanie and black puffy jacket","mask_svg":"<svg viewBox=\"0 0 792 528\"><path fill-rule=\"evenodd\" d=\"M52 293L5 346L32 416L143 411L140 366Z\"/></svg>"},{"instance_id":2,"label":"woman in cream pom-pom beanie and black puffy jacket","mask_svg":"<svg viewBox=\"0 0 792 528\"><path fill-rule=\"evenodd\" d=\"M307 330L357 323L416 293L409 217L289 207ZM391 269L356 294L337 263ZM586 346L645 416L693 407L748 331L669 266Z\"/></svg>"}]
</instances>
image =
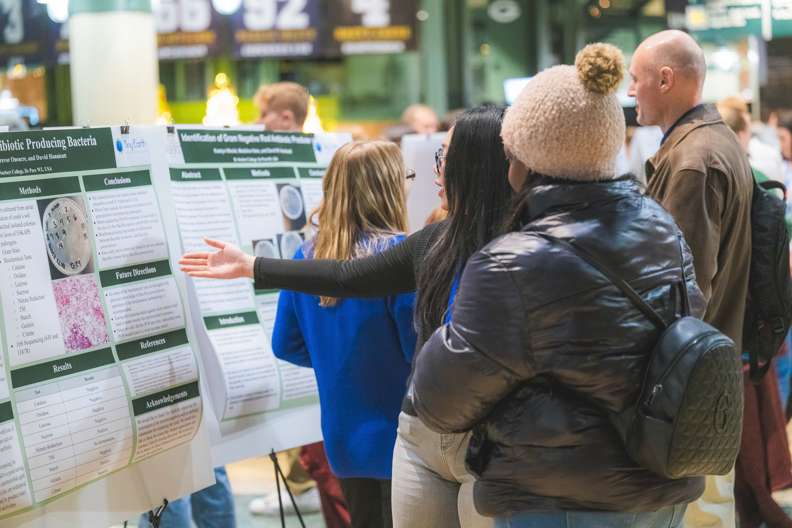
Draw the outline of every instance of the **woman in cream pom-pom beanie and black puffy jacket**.
<instances>
[{"instance_id":1,"label":"woman in cream pom-pom beanie and black puffy jacket","mask_svg":"<svg viewBox=\"0 0 792 528\"><path fill-rule=\"evenodd\" d=\"M680 526L703 477L631 461L607 412L638 397L657 330L561 238L604 260L674 321L683 278L705 302L673 219L615 178L623 56L592 44L537 75L502 129L520 193L512 233L467 261L451 320L417 355L413 405L433 431L473 430L474 503L496 526ZM680 251L680 247L683 248Z\"/></svg>"}]
</instances>

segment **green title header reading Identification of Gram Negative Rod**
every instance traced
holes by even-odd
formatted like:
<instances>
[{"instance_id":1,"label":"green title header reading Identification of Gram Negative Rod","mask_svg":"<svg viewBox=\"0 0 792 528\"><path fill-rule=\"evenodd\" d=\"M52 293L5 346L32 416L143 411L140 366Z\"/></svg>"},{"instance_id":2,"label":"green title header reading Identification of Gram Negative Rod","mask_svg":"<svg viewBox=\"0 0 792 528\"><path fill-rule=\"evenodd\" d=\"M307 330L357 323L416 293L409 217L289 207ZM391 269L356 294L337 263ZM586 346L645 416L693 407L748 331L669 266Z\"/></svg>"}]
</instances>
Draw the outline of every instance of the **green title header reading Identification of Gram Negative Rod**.
<instances>
[{"instance_id":1,"label":"green title header reading Identification of Gram Negative Rod","mask_svg":"<svg viewBox=\"0 0 792 528\"><path fill-rule=\"evenodd\" d=\"M316 162L313 134L178 130L185 163Z\"/></svg>"}]
</instances>

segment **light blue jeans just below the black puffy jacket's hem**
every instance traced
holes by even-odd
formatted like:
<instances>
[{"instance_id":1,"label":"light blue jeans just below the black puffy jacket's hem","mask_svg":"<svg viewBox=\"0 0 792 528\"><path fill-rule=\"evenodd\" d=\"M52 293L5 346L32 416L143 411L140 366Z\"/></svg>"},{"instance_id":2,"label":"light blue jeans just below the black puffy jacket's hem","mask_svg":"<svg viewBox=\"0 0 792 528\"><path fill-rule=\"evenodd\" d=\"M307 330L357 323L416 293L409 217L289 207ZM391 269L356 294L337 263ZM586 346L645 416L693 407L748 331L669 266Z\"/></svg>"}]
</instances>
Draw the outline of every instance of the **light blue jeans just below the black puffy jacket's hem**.
<instances>
[{"instance_id":1,"label":"light blue jeans just below the black puffy jacket's hem","mask_svg":"<svg viewBox=\"0 0 792 528\"><path fill-rule=\"evenodd\" d=\"M687 504L652 512L526 511L495 519L495 528L679 528Z\"/></svg>"}]
</instances>

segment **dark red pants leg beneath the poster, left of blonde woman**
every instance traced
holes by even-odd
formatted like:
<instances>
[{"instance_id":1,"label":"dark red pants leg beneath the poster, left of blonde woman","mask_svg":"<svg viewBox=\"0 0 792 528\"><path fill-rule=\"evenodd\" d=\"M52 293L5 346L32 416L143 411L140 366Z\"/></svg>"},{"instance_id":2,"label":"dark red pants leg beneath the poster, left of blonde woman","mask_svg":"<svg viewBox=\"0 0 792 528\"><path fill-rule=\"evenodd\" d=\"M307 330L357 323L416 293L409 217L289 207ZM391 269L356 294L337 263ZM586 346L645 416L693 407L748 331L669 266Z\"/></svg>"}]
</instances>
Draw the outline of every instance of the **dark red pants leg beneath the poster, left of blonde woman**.
<instances>
[{"instance_id":1,"label":"dark red pants leg beneath the poster, left of blonde woman","mask_svg":"<svg viewBox=\"0 0 792 528\"><path fill-rule=\"evenodd\" d=\"M327 462L325 443L317 442L302 446L299 451L299 463L316 481L327 528L351 528L349 512L341 494L341 484L338 484L338 479L330 471Z\"/></svg>"}]
</instances>

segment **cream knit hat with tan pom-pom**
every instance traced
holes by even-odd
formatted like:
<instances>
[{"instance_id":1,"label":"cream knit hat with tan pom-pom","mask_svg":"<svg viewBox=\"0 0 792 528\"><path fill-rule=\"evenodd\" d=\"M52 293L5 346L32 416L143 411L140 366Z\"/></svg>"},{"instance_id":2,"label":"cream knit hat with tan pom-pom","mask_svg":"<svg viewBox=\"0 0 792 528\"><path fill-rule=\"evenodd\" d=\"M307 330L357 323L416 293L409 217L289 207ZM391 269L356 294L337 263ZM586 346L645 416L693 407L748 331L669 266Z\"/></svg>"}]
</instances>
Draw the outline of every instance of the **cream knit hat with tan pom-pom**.
<instances>
[{"instance_id":1,"label":"cream knit hat with tan pom-pom","mask_svg":"<svg viewBox=\"0 0 792 528\"><path fill-rule=\"evenodd\" d=\"M615 177L625 137L616 90L624 55L611 44L588 44L574 66L553 66L529 82L508 108L504 146L527 169L569 180Z\"/></svg>"}]
</instances>

